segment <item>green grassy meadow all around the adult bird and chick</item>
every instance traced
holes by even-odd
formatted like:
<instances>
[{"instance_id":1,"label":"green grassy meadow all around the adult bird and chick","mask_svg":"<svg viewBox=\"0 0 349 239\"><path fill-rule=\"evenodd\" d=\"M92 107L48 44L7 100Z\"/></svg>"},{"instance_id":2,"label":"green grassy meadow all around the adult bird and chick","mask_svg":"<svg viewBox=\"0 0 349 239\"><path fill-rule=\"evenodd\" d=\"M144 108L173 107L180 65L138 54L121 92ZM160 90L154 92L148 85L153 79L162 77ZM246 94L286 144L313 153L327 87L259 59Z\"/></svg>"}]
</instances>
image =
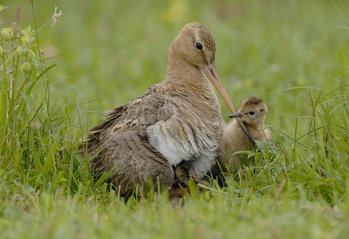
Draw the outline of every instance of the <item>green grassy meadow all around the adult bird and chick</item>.
<instances>
[{"instance_id":1,"label":"green grassy meadow all around the adult bird and chick","mask_svg":"<svg viewBox=\"0 0 349 239\"><path fill-rule=\"evenodd\" d=\"M346 3L4 2L0 30L19 4L20 29L33 32L0 42L0 238L347 238ZM65 15L52 27L54 4ZM267 103L276 148L246 152L268 162L228 175L213 198L193 192L181 209L165 192L124 203L93 183L77 141L163 80L168 46L191 21L213 32L236 107L251 95ZM35 58L18 54L24 43Z\"/></svg>"}]
</instances>

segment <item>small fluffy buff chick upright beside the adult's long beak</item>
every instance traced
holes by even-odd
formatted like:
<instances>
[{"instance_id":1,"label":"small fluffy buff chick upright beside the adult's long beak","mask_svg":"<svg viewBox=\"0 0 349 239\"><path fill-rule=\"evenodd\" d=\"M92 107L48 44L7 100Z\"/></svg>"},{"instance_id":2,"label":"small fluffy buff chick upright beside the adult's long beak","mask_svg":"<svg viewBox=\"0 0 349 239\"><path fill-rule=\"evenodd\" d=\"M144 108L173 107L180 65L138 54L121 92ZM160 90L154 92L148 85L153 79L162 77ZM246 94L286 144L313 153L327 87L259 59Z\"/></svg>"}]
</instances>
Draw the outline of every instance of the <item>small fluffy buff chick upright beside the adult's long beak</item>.
<instances>
[{"instance_id":1,"label":"small fluffy buff chick upright beside the adult's long beak","mask_svg":"<svg viewBox=\"0 0 349 239\"><path fill-rule=\"evenodd\" d=\"M233 169L241 168L242 155L235 154L236 151L248 149L249 139L242 131L237 120L243 121L252 136L259 141L266 141L271 138L271 132L268 128L262 128L261 123L264 122L267 115L267 105L258 97L250 97L242 101L241 107L236 114L229 116L235 118L231 120L224 128L222 134L222 153L219 155L220 161L230 163ZM248 164L251 159L244 158Z\"/></svg>"}]
</instances>

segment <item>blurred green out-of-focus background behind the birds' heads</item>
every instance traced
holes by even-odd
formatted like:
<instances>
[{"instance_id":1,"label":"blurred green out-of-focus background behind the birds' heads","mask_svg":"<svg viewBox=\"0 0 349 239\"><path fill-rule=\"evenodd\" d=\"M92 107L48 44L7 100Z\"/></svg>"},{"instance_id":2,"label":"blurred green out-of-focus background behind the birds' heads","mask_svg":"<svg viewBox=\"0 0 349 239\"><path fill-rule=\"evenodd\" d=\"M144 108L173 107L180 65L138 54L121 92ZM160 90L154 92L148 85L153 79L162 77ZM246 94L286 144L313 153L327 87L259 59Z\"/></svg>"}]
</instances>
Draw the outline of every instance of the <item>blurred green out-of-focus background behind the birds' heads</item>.
<instances>
[{"instance_id":1,"label":"blurred green out-of-focus background behind the birds' heads","mask_svg":"<svg viewBox=\"0 0 349 239\"><path fill-rule=\"evenodd\" d=\"M9 7L1 12L6 25L18 4L20 27L34 26L29 0L2 4ZM266 124L287 132L296 116L311 115L309 91L320 91L281 90L332 91L341 80L348 83L340 64L349 65L349 30L338 27L345 21L334 4L349 17L348 0L33 0L33 10L37 28L51 19L55 5L65 13L48 45L50 24L39 32L46 58L68 50L48 60L58 64L49 71L52 99L70 95L73 105L108 97L80 106L92 111L90 125L161 82L169 44L183 25L198 21L215 36L216 66L235 106L257 95L269 107ZM227 119L223 104L222 114Z\"/></svg>"}]
</instances>

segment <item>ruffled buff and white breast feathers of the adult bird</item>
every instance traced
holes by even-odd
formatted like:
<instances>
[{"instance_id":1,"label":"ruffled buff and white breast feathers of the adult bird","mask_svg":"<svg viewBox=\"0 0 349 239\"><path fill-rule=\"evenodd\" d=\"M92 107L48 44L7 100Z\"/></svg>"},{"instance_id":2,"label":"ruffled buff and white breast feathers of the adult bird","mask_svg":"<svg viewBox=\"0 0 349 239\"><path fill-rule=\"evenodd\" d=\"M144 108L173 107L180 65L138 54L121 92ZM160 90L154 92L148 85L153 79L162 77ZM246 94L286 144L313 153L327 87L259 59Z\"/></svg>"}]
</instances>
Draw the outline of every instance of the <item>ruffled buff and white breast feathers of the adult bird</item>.
<instances>
[{"instance_id":1,"label":"ruffled buff and white breast feathers of the adult bird","mask_svg":"<svg viewBox=\"0 0 349 239\"><path fill-rule=\"evenodd\" d=\"M215 163L224 127L218 99L172 97L164 104L163 112L172 115L148 127L149 142L172 166L183 160L191 161L197 176L202 178Z\"/></svg>"}]
</instances>

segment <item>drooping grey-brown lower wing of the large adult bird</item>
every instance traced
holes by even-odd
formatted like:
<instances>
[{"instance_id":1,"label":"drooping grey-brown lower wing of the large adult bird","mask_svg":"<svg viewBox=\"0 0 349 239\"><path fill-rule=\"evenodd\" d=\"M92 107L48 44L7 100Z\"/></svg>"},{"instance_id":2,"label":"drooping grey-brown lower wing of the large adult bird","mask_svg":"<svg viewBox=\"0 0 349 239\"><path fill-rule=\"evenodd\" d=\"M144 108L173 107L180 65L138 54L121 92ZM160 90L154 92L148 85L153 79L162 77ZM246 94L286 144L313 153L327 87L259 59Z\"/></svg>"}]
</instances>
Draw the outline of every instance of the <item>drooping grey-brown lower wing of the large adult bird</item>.
<instances>
[{"instance_id":1,"label":"drooping grey-brown lower wing of the large adult bird","mask_svg":"<svg viewBox=\"0 0 349 239\"><path fill-rule=\"evenodd\" d=\"M100 177L114 166L111 180L122 194L129 194L139 184L140 191L145 183L171 186L174 171L167 159L149 143L145 131L126 131L110 135L102 145L102 151L90 162L95 176Z\"/></svg>"}]
</instances>

